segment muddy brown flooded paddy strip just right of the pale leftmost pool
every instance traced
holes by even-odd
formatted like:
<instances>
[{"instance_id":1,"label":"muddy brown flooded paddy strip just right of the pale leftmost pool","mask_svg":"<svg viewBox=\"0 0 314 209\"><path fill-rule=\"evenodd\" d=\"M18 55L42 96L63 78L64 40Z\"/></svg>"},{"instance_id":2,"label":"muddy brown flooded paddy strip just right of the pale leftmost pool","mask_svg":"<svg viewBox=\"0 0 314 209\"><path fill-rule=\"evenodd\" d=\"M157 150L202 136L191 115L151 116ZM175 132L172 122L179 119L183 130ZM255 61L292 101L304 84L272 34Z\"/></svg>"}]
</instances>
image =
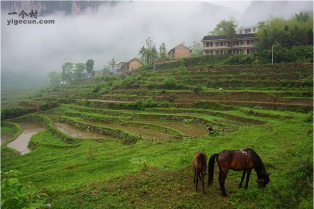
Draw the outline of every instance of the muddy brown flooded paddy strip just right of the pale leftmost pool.
<instances>
[{"instance_id":1,"label":"muddy brown flooded paddy strip just right of the pale leftmost pool","mask_svg":"<svg viewBox=\"0 0 314 209\"><path fill-rule=\"evenodd\" d=\"M59 131L62 131L63 133L80 138L80 139L113 139L113 140L120 140L118 138L102 135L94 132L88 132L88 131L82 131L80 129L75 128L74 126L71 126L69 124L65 123L53 123L54 127L56 127Z\"/></svg>"}]
</instances>

